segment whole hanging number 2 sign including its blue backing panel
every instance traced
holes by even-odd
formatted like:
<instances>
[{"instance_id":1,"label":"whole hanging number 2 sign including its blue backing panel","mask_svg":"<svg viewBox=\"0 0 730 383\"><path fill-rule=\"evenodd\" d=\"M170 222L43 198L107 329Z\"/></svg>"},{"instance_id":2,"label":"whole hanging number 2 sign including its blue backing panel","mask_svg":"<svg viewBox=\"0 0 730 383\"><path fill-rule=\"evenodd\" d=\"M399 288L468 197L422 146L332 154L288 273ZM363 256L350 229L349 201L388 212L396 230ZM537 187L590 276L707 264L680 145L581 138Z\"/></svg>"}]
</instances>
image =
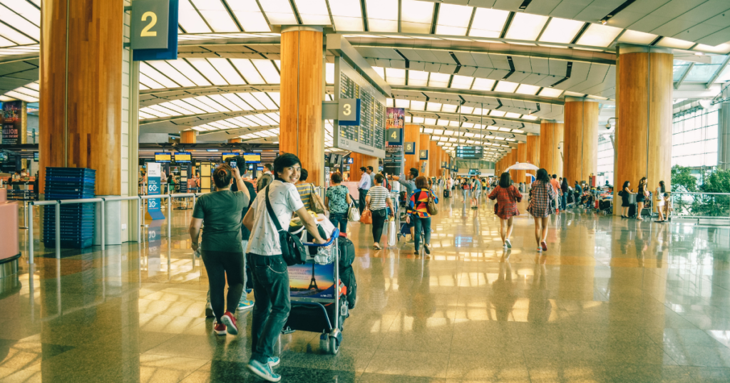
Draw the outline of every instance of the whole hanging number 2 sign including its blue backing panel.
<instances>
[{"instance_id":1,"label":"whole hanging number 2 sign including its blue backing panel","mask_svg":"<svg viewBox=\"0 0 730 383\"><path fill-rule=\"evenodd\" d=\"M130 45L133 61L177 59L179 0L134 0Z\"/></svg>"}]
</instances>

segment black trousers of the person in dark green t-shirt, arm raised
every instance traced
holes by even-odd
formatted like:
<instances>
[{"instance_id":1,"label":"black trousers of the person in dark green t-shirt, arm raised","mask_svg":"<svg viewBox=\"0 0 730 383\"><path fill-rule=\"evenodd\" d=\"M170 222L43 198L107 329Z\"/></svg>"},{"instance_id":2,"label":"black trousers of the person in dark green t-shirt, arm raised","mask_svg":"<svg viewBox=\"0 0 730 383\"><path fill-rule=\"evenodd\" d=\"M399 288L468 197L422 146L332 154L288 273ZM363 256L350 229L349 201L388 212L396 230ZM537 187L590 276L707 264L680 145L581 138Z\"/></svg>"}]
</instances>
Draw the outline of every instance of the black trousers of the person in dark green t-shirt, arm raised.
<instances>
[{"instance_id":1,"label":"black trousers of the person in dark green t-shirt, arm raised","mask_svg":"<svg viewBox=\"0 0 730 383\"><path fill-rule=\"evenodd\" d=\"M213 308L215 320L228 312L236 312L243 292L243 252L215 252L201 249L201 257L208 273L210 288L210 306ZM223 298L228 279L228 294ZM227 302L226 302L227 300ZM226 309L223 309L226 306Z\"/></svg>"}]
</instances>

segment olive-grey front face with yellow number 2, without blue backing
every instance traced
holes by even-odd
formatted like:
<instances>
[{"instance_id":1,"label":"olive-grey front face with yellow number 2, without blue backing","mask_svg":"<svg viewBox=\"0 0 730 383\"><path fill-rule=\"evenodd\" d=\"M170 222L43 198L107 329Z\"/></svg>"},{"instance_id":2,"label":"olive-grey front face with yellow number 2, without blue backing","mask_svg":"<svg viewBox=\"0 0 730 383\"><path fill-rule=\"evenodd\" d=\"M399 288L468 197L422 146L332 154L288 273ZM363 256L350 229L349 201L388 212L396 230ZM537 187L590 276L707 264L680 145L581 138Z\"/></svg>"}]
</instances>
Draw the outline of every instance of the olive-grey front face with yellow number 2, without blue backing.
<instances>
[{"instance_id":1,"label":"olive-grey front face with yellow number 2, without blue backing","mask_svg":"<svg viewBox=\"0 0 730 383\"><path fill-rule=\"evenodd\" d=\"M131 49L166 49L170 0L132 1Z\"/></svg>"}]
</instances>

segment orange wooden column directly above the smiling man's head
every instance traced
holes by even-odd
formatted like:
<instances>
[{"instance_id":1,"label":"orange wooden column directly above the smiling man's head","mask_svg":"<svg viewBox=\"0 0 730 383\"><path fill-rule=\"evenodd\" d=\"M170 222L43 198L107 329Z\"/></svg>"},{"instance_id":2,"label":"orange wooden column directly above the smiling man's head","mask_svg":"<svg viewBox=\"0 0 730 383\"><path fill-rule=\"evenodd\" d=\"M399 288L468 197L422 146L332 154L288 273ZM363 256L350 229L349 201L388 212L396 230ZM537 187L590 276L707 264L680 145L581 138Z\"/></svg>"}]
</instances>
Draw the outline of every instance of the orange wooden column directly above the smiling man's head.
<instances>
[{"instance_id":1,"label":"orange wooden column directly above the smiling man's head","mask_svg":"<svg viewBox=\"0 0 730 383\"><path fill-rule=\"evenodd\" d=\"M299 157L316 185L324 182L322 45L321 27L281 29L279 150Z\"/></svg>"}]
</instances>

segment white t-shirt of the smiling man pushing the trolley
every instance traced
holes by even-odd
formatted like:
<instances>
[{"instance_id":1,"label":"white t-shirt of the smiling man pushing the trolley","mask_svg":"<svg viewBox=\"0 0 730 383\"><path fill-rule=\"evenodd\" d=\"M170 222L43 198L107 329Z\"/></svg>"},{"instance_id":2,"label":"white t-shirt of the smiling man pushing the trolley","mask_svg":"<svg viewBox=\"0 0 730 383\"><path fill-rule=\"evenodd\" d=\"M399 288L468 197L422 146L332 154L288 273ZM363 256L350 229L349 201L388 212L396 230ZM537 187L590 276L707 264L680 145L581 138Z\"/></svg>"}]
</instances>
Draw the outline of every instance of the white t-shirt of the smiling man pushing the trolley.
<instances>
[{"instance_id":1,"label":"white t-shirt of the smiling man pushing the trolley","mask_svg":"<svg viewBox=\"0 0 730 383\"><path fill-rule=\"evenodd\" d=\"M284 230L288 230L291 223L291 214L304 207L296 191L296 186L288 182L281 182L274 179L269 184L269 202L272 204L274 214L279 219L279 224ZM266 210L266 187L258 190L250 209L253 210L253 229L248 239L246 252L253 252L258 255L279 255L281 244L276 225L269 217Z\"/></svg>"}]
</instances>

